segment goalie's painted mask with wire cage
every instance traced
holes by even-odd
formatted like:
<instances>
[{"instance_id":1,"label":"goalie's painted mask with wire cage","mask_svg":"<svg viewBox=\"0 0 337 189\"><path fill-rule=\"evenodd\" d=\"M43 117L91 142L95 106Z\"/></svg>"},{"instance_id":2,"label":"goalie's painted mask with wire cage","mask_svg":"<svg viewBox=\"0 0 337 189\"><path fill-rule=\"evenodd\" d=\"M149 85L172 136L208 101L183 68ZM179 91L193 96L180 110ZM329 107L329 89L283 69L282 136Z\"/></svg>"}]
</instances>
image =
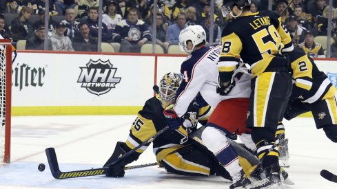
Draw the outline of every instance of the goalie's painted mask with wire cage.
<instances>
[{"instance_id":1,"label":"goalie's painted mask with wire cage","mask_svg":"<svg viewBox=\"0 0 337 189\"><path fill-rule=\"evenodd\" d=\"M176 97L176 90L181 84L181 76L179 74L169 72L163 76L160 83L159 96L163 108L172 104Z\"/></svg>"}]
</instances>

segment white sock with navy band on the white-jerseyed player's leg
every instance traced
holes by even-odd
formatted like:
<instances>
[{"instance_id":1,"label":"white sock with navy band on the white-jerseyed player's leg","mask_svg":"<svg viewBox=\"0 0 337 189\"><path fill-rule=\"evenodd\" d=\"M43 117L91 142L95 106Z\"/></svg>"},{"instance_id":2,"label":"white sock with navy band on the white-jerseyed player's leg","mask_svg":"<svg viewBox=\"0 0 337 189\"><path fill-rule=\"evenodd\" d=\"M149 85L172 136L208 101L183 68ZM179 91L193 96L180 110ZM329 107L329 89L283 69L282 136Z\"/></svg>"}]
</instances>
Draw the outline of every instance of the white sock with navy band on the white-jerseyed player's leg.
<instances>
[{"instance_id":1,"label":"white sock with navy band on the white-jerseyed player's leg","mask_svg":"<svg viewBox=\"0 0 337 189\"><path fill-rule=\"evenodd\" d=\"M201 139L230 175L234 176L242 169L238 164L238 155L233 146L227 142L227 137L223 131L207 126L201 135Z\"/></svg>"}]
</instances>

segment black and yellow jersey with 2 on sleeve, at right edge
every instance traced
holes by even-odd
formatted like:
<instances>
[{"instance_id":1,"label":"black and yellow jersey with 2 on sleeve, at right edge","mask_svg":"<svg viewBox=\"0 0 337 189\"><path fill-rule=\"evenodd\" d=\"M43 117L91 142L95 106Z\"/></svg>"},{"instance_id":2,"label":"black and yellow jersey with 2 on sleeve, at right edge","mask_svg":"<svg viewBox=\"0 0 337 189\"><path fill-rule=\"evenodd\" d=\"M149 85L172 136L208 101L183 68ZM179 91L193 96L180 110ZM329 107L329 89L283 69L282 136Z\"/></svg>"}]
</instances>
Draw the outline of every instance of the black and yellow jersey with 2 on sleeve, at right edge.
<instances>
[{"instance_id":1,"label":"black and yellow jersey with 2 on sleeve, at right edge","mask_svg":"<svg viewBox=\"0 0 337 189\"><path fill-rule=\"evenodd\" d=\"M300 98L303 102L311 104L334 97L337 89L331 84L327 75L319 71L314 60L305 54L303 49L294 47L294 51L288 55L295 80L292 91L294 98Z\"/></svg>"}]
</instances>

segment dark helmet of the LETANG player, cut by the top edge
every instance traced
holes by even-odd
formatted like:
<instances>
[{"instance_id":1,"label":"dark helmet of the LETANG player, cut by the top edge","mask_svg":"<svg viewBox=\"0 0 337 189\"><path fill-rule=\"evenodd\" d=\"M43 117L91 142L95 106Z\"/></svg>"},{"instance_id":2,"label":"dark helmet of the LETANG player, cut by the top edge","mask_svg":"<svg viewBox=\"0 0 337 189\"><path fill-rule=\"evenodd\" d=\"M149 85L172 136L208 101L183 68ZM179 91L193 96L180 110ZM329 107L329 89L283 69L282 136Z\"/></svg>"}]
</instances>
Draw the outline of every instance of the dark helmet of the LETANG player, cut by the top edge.
<instances>
[{"instance_id":1,"label":"dark helmet of the LETANG player, cut by the top edge","mask_svg":"<svg viewBox=\"0 0 337 189\"><path fill-rule=\"evenodd\" d=\"M227 17L228 14L230 14L233 18L236 18L241 15L243 8L245 6L249 6L250 3L252 3L252 0L224 0L223 5L221 6L221 13L224 18ZM235 5L241 10L241 13L236 16L232 13L232 8L234 8Z\"/></svg>"}]
</instances>

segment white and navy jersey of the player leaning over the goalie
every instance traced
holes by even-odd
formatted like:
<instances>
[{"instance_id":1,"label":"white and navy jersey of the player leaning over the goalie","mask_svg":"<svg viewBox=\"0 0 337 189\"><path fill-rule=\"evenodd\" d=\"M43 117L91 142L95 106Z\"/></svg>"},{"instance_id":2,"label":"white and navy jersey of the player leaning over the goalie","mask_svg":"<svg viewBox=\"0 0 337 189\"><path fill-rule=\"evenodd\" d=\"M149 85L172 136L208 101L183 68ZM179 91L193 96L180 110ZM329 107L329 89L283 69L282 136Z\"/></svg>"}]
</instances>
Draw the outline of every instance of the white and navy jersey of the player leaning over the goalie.
<instances>
[{"instance_id":1,"label":"white and navy jersey of the player leaning over the goalie","mask_svg":"<svg viewBox=\"0 0 337 189\"><path fill-rule=\"evenodd\" d=\"M241 68L243 72L241 78L236 80L236 86L227 96L216 93L218 83L218 57L221 46L201 47L187 56L181 64L181 74L183 79L176 93L174 111L181 117L187 111L189 104L196 98L198 93L203 99L215 109L219 102L231 98L249 98L250 80L252 75L248 74L246 68Z\"/></svg>"}]
</instances>

